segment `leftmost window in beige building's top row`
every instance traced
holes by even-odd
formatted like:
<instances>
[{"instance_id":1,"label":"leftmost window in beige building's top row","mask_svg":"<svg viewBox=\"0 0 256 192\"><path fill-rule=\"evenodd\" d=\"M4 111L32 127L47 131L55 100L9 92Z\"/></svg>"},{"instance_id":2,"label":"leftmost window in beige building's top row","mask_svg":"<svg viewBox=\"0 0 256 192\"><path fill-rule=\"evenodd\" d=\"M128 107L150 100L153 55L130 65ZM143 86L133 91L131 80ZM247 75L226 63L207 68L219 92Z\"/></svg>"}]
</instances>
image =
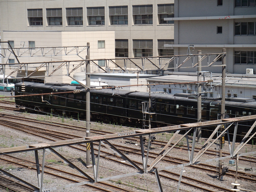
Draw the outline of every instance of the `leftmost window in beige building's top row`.
<instances>
[{"instance_id":1,"label":"leftmost window in beige building's top row","mask_svg":"<svg viewBox=\"0 0 256 192\"><path fill-rule=\"evenodd\" d=\"M28 9L28 22L30 26L43 25L43 10L42 9Z\"/></svg>"}]
</instances>

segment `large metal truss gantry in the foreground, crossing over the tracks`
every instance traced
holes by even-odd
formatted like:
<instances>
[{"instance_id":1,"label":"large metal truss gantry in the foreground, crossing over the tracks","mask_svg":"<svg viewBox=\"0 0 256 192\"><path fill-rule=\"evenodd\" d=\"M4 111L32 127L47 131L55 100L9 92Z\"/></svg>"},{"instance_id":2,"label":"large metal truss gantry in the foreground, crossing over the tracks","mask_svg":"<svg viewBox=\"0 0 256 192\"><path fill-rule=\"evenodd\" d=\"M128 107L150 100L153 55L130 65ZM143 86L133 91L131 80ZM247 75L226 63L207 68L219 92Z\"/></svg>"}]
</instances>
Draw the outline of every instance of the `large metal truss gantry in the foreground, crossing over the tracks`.
<instances>
[{"instance_id":1,"label":"large metal truss gantry in the foreground, crossing over the tracks","mask_svg":"<svg viewBox=\"0 0 256 192\"><path fill-rule=\"evenodd\" d=\"M247 134L244 136L244 138L241 140L240 144L236 147L235 142L237 138L237 130L238 125L241 122L253 122L252 126L250 127ZM106 180L111 179L117 179L117 178L124 178L128 176L135 176L138 174L146 174L146 173L154 173L156 176L156 180L158 183L158 188L160 192L163 191L162 185L160 182L160 176L159 172L162 170L168 170L172 168L183 168L185 166L190 165L197 165L202 164L206 162L214 162L229 158L238 158L241 156L248 156L252 154L256 154L256 151L252 152L246 152L246 153L239 153L240 150L250 141L256 134L255 131L255 125L256 125L256 115L252 116L243 116L238 118L226 118L222 120L213 120L208 122L198 122L198 123L189 123L189 124L181 124L176 126L167 126L167 127L161 127L161 128L152 128L152 129L144 129L144 130L133 130L128 132L120 132L116 134L108 134L108 135L98 135L98 136L90 136L86 138L79 138L79 139L73 139L73 140L64 140L64 141L57 141L57 142L49 142L49 143L39 143L39 144L32 144L28 146L20 146L20 147L13 147L13 148L6 148L0 150L0 155L9 155L9 154L15 154L15 153L22 153L22 152L30 152L34 151L34 157L35 157L35 163L36 163L36 172L37 172L37 180L38 180L38 186L34 186L33 184L30 184L21 178L17 178L16 176L0 169L0 172L15 178L19 180L20 182L23 182L24 184L29 185L30 187L34 188L35 192L50 192L57 189L62 188L68 188L72 186L80 186L84 184L91 184L96 182L102 182ZM233 140L230 142L230 132L229 129L231 126L234 126L234 133L233 134ZM205 128L208 129L209 127L215 127L214 131L212 132L211 136L208 138L206 143L202 146L199 152L195 152L195 145L196 145L196 131L197 128ZM219 134L217 134L218 130L221 127L225 127L223 131L221 131ZM183 135L178 134L181 131L185 131L186 133ZM190 146L189 140L188 140L188 133L192 131L193 132L193 138L192 138L192 145ZM148 136L148 149L150 149L150 138L153 134L158 133L166 133L166 132L175 132L166 144L166 146L162 149L162 151L158 154L158 156L154 159L154 161L148 165L148 154L149 150L147 152L144 151L144 142L143 137ZM202 155L218 140L221 136L224 134L227 134L228 136L228 144L229 144L229 155L219 158L210 158L205 160L204 158L201 158ZM250 136L251 135L251 136ZM212 138L215 139L212 140ZM131 138L131 137L138 137L140 138L140 148L141 148L141 164L142 166L138 166L138 164L130 159L126 154L118 150L113 144L111 144L111 141L122 139L122 138ZM188 163L184 164L178 164L178 165L171 165L171 166L161 166L159 162L172 151L174 146L178 145L178 143L182 140L182 138L186 138L187 140L187 146L188 146ZM176 139L174 141L174 139ZM174 142L174 144L171 144ZM78 168L76 165L74 165L72 162L70 162L67 158L65 158L65 154L60 154L54 148L62 147L62 146L74 146L74 145L80 145L80 144L88 144L90 143L90 152L92 157L92 169L93 169L93 176L89 176L86 174L83 170ZM94 146L98 145L98 154L94 154ZM99 164L100 164L100 151L102 150L102 146L110 149L114 154L117 154L128 162L130 165L133 166L134 172L128 173L128 174L119 174L115 176L110 176L108 178L99 178ZM42 160L40 160L38 156L38 151L42 151ZM63 186L55 186L55 187L44 187L43 186L43 176L44 176L44 167L45 167L45 154L46 152L50 152L51 154L54 154L55 156L58 156L60 159L62 159L63 162L68 164L71 168L76 170L78 173L82 174L82 176L86 177L86 180L83 180L82 182L78 182L75 184L67 184ZM145 154L146 153L146 154ZM201 159L200 159L201 158ZM41 163L40 163L41 161ZM117 164L117 166L120 166ZM180 173L180 180L177 186L177 191L179 190L180 181L182 178L182 171Z\"/></svg>"}]
</instances>

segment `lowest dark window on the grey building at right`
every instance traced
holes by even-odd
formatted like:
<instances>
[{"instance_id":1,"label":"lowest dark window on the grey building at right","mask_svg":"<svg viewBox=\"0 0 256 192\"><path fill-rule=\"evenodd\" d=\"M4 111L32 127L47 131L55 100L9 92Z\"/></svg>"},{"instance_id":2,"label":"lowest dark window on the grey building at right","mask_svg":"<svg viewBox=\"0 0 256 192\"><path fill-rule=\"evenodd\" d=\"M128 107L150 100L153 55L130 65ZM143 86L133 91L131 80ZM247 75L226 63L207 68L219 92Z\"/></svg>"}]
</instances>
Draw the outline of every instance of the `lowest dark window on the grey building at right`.
<instances>
[{"instance_id":1,"label":"lowest dark window on the grey building at right","mask_svg":"<svg viewBox=\"0 0 256 192\"><path fill-rule=\"evenodd\" d=\"M256 64L256 51L235 51L235 64Z\"/></svg>"}]
</instances>

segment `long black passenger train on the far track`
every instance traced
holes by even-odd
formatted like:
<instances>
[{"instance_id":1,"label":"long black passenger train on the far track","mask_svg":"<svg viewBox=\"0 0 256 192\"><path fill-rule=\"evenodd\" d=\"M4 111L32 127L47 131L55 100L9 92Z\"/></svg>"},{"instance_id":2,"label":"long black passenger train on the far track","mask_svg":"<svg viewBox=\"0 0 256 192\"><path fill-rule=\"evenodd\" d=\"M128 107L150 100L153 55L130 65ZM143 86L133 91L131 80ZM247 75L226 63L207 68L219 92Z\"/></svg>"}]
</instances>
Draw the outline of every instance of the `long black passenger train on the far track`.
<instances>
[{"instance_id":1,"label":"long black passenger train on the far track","mask_svg":"<svg viewBox=\"0 0 256 192\"><path fill-rule=\"evenodd\" d=\"M86 90L82 86L33 82L24 82L24 84L23 91L22 82L15 84L15 96L51 92L60 92L60 94L16 97L17 106L73 117L85 117ZM80 93L61 93L76 89L80 89ZM150 100L150 112L154 113L150 117L152 128L197 122L197 99L194 96L151 93ZM91 119L107 123L142 126L142 102L148 101L148 92L91 89ZM230 118L256 114L256 100L254 99L226 98L225 104L225 113ZM220 107L221 100L202 98L202 121L218 119ZM246 132L244 128L243 132Z\"/></svg>"}]
</instances>

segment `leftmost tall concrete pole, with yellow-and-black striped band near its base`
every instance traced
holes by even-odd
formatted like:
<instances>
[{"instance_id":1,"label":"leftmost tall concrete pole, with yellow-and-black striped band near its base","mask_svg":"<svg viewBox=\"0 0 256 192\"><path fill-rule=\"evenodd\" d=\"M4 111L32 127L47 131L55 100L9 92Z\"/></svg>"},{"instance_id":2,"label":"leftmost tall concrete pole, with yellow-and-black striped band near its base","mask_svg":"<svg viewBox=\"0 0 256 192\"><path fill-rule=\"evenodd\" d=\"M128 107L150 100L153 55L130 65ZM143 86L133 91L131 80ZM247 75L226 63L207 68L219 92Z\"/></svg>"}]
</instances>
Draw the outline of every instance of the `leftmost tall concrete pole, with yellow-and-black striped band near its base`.
<instances>
[{"instance_id":1,"label":"leftmost tall concrete pole, with yellow-and-black striped band near its base","mask_svg":"<svg viewBox=\"0 0 256 192\"><path fill-rule=\"evenodd\" d=\"M87 43L86 55L86 137L90 137L90 43ZM86 146L86 166L90 166L90 143Z\"/></svg>"}]
</instances>

